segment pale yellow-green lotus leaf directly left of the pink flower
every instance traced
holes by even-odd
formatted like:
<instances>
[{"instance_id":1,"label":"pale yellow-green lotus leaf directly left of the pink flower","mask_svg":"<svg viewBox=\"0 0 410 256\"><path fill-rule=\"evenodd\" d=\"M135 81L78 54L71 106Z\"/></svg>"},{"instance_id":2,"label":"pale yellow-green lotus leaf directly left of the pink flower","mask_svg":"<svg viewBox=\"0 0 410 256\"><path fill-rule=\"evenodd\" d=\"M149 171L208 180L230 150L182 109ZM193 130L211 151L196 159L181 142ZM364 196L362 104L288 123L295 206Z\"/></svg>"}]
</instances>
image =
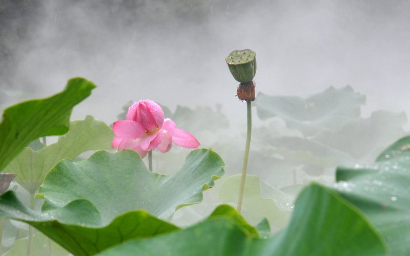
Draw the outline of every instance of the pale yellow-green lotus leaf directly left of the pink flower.
<instances>
[{"instance_id":1,"label":"pale yellow-green lotus leaf directly left of the pink flower","mask_svg":"<svg viewBox=\"0 0 410 256\"><path fill-rule=\"evenodd\" d=\"M104 122L87 116L85 120L72 121L70 131L58 142L33 151L26 147L5 168L5 172L17 174L18 184L35 193L43 183L47 172L62 159L74 159L90 150L110 150L114 135ZM38 146L37 146L38 147Z\"/></svg>"}]
</instances>

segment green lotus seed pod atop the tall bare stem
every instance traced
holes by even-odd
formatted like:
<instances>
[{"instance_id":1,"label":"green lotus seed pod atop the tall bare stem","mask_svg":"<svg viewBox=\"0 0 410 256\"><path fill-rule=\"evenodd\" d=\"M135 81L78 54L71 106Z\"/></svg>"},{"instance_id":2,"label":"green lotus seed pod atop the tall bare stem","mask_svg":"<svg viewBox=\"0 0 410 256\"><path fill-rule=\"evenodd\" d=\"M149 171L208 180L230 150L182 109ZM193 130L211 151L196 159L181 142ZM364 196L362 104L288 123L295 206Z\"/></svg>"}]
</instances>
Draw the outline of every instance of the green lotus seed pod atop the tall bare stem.
<instances>
[{"instance_id":1,"label":"green lotus seed pod atop the tall bare stem","mask_svg":"<svg viewBox=\"0 0 410 256\"><path fill-rule=\"evenodd\" d=\"M238 82L250 82L256 74L256 53L249 49L231 52L225 60Z\"/></svg>"}]
</instances>

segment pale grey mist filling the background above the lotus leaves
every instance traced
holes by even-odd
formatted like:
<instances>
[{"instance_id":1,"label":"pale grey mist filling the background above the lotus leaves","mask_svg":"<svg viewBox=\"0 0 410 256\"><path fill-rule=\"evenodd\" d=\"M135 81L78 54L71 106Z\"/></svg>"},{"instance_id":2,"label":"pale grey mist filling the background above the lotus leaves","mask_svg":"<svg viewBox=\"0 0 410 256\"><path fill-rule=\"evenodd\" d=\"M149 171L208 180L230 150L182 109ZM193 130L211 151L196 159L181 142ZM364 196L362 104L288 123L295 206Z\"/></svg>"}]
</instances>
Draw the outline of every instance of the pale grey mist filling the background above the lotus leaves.
<instances>
[{"instance_id":1,"label":"pale grey mist filling the background above the lotus leaves","mask_svg":"<svg viewBox=\"0 0 410 256\"><path fill-rule=\"evenodd\" d=\"M408 1L2 2L3 14L25 11L3 18L0 86L23 92L7 103L83 76L98 87L74 119L112 122L129 100L149 98L171 109L222 103L235 122L245 104L224 57L249 48L257 91L306 97L350 84L366 96L364 116L410 112Z\"/></svg>"}]
</instances>

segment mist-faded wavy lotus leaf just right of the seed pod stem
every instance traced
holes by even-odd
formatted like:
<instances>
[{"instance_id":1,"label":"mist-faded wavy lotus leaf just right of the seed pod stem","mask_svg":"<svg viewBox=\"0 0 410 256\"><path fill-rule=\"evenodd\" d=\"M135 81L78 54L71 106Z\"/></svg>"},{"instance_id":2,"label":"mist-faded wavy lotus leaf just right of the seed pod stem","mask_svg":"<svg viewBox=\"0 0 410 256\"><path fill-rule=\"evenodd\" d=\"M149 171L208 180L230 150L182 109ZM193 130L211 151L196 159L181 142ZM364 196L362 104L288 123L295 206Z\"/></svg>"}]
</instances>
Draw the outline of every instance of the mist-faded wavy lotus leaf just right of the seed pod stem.
<instances>
[{"instance_id":1,"label":"mist-faded wavy lotus leaf just right of the seed pod stem","mask_svg":"<svg viewBox=\"0 0 410 256\"><path fill-rule=\"evenodd\" d=\"M256 98L255 106L261 119L279 116L289 127L305 136L315 135L323 129L338 131L360 116L360 105L365 102L365 97L355 93L350 86L330 87L306 99L263 93L258 93Z\"/></svg>"}]
</instances>

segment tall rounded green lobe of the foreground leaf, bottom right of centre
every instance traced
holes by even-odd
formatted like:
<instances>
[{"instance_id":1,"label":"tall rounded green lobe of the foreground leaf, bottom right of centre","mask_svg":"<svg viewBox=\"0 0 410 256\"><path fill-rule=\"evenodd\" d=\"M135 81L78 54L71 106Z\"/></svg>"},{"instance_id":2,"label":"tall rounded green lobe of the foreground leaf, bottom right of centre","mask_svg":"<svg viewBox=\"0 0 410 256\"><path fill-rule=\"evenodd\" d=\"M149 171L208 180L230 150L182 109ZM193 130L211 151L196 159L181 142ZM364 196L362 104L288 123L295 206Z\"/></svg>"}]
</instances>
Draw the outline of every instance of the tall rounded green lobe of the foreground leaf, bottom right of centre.
<instances>
[{"instance_id":1,"label":"tall rounded green lobe of the foreground leaf, bottom right of centre","mask_svg":"<svg viewBox=\"0 0 410 256\"><path fill-rule=\"evenodd\" d=\"M275 255L386 255L378 230L352 203L323 185L306 187L290 224L272 238Z\"/></svg>"}]
</instances>

